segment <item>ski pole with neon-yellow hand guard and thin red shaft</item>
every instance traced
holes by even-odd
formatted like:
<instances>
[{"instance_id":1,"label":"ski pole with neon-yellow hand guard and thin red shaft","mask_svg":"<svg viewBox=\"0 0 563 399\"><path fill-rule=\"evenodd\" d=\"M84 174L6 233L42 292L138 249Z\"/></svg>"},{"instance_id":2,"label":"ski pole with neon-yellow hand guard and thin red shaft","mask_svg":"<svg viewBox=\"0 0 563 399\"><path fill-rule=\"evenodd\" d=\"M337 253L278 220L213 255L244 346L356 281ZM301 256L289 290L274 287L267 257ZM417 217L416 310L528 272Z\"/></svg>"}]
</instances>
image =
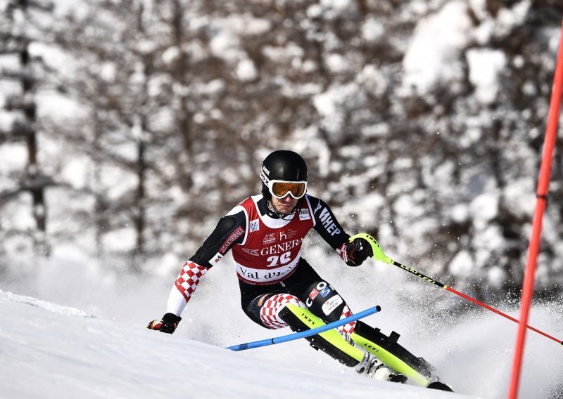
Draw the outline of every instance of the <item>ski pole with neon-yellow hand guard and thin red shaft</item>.
<instances>
[{"instance_id":1,"label":"ski pole with neon-yellow hand guard and thin red shaft","mask_svg":"<svg viewBox=\"0 0 563 399\"><path fill-rule=\"evenodd\" d=\"M417 277L422 278L422 280L426 280L427 282L431 282L432 284L437 285L440 288L446 289L449 292L453 292L453 294L461 296L463 299L467 299L467 301L471 301L473 303L476 303L476 305L479 305L479 306L482 306L483 308L491 310L491 312L494 312L498 315L501 315L502 317L505 317L508 320L512 320L513 322L519 323L519 321L517 319L513 318L512 316L507 315L506 313L502 313L500 310L495 309L492 306L488 306L486 303L477 301L476 299L472 298L471 296L463 294L462 292L459 292L456 289L453 289L452 287L448 287L447 285L442 284L441 282L436 281L433 278L430 278L426 275L423 275L422 273L418 272L417 270L415 270L413 268L405 266L405 265L403 265L403 264L401 264L397 261L393 261L393 259L389 258L386 254L384 254L383 249L381 249L381 247L379 246L379 242L377 242L377 240L375 240L375 238L372 237L371 235L369 235L367 233L356 234L356 235L353 235L352 237L350 237L350 241L354 240L355 238L363 238L364 240L367 240L367 242L369 242L369 244L371 244L372 250L373 250L373 253L374 253L374 259L376 259L377 261L382 261L384 263L388 263L389 265L398 266L399 268L402 268L403 270L406 270L407 272L409 272L409 273L411 273L411 274L413 274ZM545 336L546 338L552 339L553 341L555 341L558 344L561 344L563 346L563 341L561 341L560 339L557 339L553 336L550 336L550 334L545 334L545 332L540 331L537 328L531 327L531 325L526 325L526 327L528 327L532 331L537 332L538 334Z\"/></svg>"}]
</instances>

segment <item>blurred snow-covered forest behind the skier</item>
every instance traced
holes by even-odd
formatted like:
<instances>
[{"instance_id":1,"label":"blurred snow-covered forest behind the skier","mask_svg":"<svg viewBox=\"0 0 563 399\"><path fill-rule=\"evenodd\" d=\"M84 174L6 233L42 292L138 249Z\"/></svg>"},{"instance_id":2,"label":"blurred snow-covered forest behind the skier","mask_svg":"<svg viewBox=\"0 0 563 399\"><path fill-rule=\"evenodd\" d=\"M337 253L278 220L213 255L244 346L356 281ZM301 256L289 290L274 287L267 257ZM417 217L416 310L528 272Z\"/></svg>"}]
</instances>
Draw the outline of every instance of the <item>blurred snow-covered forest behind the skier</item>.
<instances>
[{"instance_id":1,"label":"blurred snow-covered forest behind the skier","mask_svg":"<svg viewBox=\"0 0 563 399\"><path fill-rule=\"evenodd\" d=\"M186 259L286 148L348 233L479 299L519 292L561 1L5 0L0 12L0 278L70 247L131 273ZM540 297L562 292L561 148L559 135Z\"/></svg>"}]
</instances>

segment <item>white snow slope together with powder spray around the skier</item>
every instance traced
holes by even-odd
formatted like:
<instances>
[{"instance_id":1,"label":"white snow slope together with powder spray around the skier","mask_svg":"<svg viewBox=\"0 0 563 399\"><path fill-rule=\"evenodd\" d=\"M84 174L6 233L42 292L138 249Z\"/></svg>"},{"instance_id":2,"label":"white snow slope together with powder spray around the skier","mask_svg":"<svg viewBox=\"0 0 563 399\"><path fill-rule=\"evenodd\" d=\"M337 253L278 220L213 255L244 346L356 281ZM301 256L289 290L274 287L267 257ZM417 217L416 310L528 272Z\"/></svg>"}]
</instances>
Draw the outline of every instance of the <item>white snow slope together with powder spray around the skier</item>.
<instances>
[{"instance_id":1,"label":"white snow slope together with powder spray around the skier","mask_svg":"<svg viewBox=\"0 0 563 399\"><path fill-rule=\"evenodd\" d=\"M162 315L173 277L141 279L51 259L0 281L0 398L506 396L517 325L481 309L445 316L444 301L460 299L398 268L368 263L346 268L329 258L317 269L353 309L379 304L381 313L367 322L400 332L399 342L459 394L362 378L304 340L222 349L289 332L262 329L243 315L227 261L205 275L170 336L144 325ZM514 308L502 310L517 317ZM535 306L530 324L560 338L561 310L559 303ZM530 332L519 398L563 397L562 373L563 348Z\"/></svg>"}]
</instances>

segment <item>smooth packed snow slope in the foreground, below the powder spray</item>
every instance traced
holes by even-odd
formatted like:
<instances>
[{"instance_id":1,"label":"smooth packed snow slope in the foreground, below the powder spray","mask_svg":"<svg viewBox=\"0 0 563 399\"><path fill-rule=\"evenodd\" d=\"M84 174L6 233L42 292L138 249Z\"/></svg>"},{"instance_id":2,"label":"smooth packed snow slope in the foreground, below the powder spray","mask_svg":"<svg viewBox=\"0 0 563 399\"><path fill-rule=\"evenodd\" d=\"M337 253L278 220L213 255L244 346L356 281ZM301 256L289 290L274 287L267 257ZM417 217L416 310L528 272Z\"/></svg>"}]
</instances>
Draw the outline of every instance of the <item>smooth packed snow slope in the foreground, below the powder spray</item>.
<instances>
[{"instance_id":1,"label":"smooth packed snow slope in the foreground, below the powder spray","mask_svg":"<svg viewBox=\"0 0 563 399\"><path fill-rule=\"evenodd\" d=\"M2 398L467 397L259 359L10 292L0 291L0 318Z\"/></svg>"}]
</instances>

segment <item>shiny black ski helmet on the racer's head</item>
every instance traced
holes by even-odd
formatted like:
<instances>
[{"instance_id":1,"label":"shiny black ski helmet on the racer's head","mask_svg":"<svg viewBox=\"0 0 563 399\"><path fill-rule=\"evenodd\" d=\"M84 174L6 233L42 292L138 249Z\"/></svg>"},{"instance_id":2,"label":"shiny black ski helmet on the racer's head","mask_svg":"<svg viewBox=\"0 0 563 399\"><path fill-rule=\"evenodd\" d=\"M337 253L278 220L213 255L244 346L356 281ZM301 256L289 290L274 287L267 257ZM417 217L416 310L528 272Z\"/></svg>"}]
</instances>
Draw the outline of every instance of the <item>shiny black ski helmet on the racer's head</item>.
<instances>
[{"instance_id":1,"label":"shiny black ski helmet on the racer's head","mask_svg":"<svg viewBox=\"0 0 563 399\"><path fill-rule=\"evenodd\" d=\"M307 164L297 152L274 151L262 162L260 180L262 180L262 196L265 199L272 199L268 190L270 180L307 181L307 179Z\"/></svg>"}]
</instances>

